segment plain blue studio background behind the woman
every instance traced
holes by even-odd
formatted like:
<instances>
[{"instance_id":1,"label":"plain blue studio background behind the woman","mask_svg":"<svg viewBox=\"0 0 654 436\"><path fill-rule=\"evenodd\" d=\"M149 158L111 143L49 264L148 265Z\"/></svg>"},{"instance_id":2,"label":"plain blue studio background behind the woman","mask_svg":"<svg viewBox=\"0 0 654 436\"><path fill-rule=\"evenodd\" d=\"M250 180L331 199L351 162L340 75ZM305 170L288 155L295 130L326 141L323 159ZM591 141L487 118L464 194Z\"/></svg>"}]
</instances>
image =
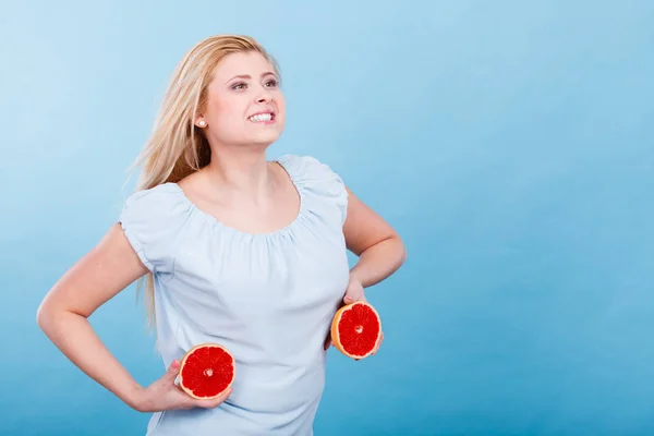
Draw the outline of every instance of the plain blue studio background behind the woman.
<instances>
[{"instance_id":1,"label":"plain blue studio background behind the woman","mask_svg":"<svg viewBox=\"0 0 654 436\"><path fill-rule=\"evenodd\" d=\"M183 52L243 33L281 64L270 156L328 162L409 251L316 435L652 435L654 3L308 3L3 5L0 434L144 434L36 308L118 217ZM92 323L162 374L135 287Z\"/></svg>"}]
</instances>

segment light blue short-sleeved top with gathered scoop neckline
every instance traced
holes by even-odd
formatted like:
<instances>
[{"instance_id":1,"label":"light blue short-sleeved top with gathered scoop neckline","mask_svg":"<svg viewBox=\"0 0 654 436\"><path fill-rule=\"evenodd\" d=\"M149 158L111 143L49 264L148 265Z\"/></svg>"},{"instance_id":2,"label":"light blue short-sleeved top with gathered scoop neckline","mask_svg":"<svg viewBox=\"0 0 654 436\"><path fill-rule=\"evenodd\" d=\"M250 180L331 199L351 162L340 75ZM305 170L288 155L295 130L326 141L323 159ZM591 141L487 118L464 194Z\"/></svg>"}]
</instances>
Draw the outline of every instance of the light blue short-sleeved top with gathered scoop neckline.
<instances>
[{"instance_id":1,"label":"light blue short-sleeved top with gathered scoop neckline","mask_svg":"<svg viewBox=\"0 0 654 436\"><path fill-rule=\"evenodd\" d=\"M120 221L155 275L157 344L166 367L203 342L237 361L215 409L155 413L147 435L313 435L323 348L349 279L348 194L312 157L276 159L301 198L286 228L250 234L199 210L175 183L132 194Z\"/></svg>"}]
</instances>

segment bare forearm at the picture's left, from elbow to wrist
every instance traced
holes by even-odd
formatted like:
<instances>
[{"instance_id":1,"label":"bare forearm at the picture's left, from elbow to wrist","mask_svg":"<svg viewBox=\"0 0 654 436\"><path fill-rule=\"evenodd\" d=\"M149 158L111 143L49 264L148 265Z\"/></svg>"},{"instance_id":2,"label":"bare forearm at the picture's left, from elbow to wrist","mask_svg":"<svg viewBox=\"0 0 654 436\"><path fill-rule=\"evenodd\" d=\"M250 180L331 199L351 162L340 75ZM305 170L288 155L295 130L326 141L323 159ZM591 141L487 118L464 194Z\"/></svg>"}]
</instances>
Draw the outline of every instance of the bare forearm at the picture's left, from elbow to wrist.
<instances>
[{"instance_id":1,"label":"bare forearm at the picture's left, from elbow to wrist","mask_svg":"<svg viewBox=\"0 0 654 436\"><path fill-rule=\"evenodd\" d=\"M58 311L39 314L38 324L61 352L85 374L129 407L138 409L143 388L109 352L81 315Z\"/></svg>"}]
</instances>

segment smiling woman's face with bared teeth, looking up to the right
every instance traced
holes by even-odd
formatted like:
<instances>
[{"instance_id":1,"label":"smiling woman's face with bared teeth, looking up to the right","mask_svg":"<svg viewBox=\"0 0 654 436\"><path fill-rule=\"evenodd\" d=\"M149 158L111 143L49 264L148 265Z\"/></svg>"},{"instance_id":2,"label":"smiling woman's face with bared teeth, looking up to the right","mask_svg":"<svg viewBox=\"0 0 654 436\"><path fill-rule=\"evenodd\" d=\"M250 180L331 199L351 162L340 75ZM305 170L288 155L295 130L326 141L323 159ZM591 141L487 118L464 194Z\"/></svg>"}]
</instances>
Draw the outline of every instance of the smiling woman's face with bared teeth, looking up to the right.
<instances>
[{"instance_id":1,"label":"smiling woman's face with bared teeth, looking up to the right","mask_svg":"<svg viewBox=\"0 0 654 436\"><path fill-rule=\"evenodd\" d=\"M269 145L284 126L284 100L272 65L258 52L231 53L214 71L205 121L211 143Z\"/></svg>"}]
</instances>

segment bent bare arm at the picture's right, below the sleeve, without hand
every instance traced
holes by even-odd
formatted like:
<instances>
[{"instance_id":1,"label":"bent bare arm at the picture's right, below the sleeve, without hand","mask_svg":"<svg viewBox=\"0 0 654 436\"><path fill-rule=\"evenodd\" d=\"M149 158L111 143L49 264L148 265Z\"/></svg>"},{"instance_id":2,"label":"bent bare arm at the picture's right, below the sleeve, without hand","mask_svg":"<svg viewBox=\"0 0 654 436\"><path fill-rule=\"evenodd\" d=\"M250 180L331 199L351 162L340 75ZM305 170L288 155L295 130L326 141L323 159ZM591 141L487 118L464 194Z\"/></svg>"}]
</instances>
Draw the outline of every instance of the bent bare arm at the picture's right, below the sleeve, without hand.
<instances>
[{"instance_id":1,"label":"bent bare arm at the picture's right, below the sleeve, without hand","mask_svg":"<svg viewBox=\"0 0 654 436\"><path fill-rule=\"evenodd\" d=\"M402 266L407 250L398 233L348 189L343 233L348 250L359 256L350 280L363 288L386 279Z\"/></svg>"}]
</instances>

